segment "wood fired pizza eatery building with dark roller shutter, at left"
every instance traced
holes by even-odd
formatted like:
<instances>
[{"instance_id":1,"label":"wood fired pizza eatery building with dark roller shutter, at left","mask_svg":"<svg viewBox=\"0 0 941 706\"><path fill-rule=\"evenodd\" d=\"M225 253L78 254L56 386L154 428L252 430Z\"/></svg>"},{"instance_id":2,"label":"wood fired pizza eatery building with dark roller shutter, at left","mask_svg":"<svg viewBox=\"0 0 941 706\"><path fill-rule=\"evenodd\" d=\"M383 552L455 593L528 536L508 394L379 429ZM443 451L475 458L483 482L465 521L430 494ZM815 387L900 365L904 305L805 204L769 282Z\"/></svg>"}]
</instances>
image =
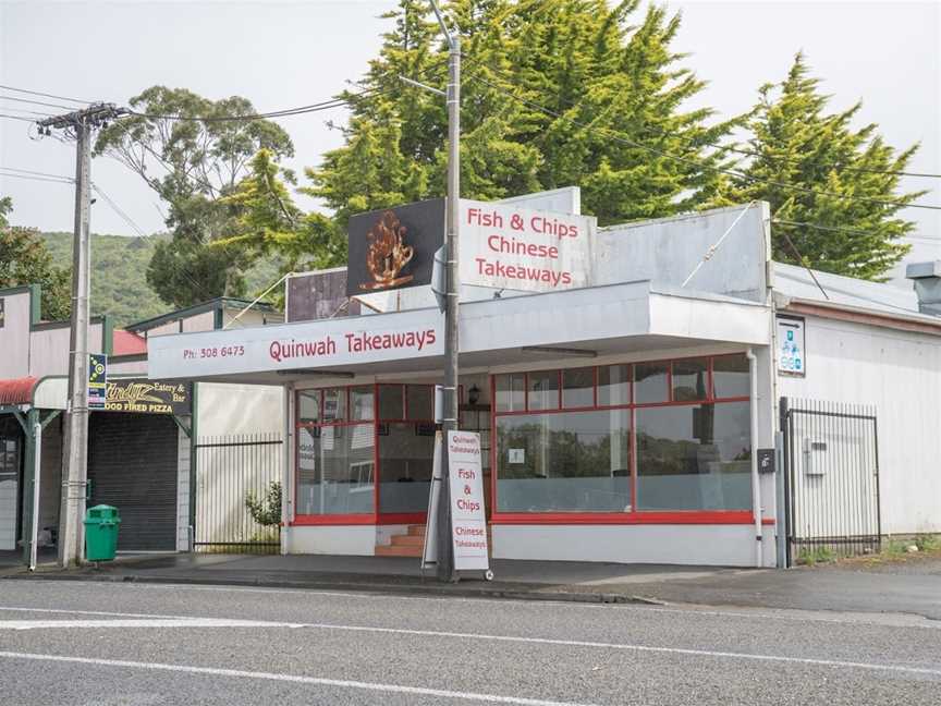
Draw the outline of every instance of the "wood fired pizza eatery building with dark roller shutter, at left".
<instances>
[{"instance_id":1,"label":"wood fired pizza eatery building with dark roller shutter, at left","mask_svg":"<svg viewBox=\"0 0 941 706\"><path fill-rule=\"evenodd\" d=\"M36 285L0 290L0 550L5 551L28 541L37 458L40 543L54 545L59 526L70 328L69 321L44 321L39 302ZM267 433L280 439L281 389L207 385L200 390L150 381L146 342L168 331L221 329L236 316L235 325L282 320L270 305L245 311L248 304L215 300L125 329L114 329L107 316L93 319L90 352L108 355L108 388L106 409L89 415L86 495L87 503L121 512L119 549L191 549L195 512L210 500L217 507L204 512L204 535L212 534L209 516L221 522L244 514L243 488L233 486L231 498L212 488L232 485L233 474L250 479L253 468L200 475L197 460L211 460L212 450L201 450L194 434L222 440ZM227 507L218 507L220 501Z\"/></svg>"}]
</instances>

